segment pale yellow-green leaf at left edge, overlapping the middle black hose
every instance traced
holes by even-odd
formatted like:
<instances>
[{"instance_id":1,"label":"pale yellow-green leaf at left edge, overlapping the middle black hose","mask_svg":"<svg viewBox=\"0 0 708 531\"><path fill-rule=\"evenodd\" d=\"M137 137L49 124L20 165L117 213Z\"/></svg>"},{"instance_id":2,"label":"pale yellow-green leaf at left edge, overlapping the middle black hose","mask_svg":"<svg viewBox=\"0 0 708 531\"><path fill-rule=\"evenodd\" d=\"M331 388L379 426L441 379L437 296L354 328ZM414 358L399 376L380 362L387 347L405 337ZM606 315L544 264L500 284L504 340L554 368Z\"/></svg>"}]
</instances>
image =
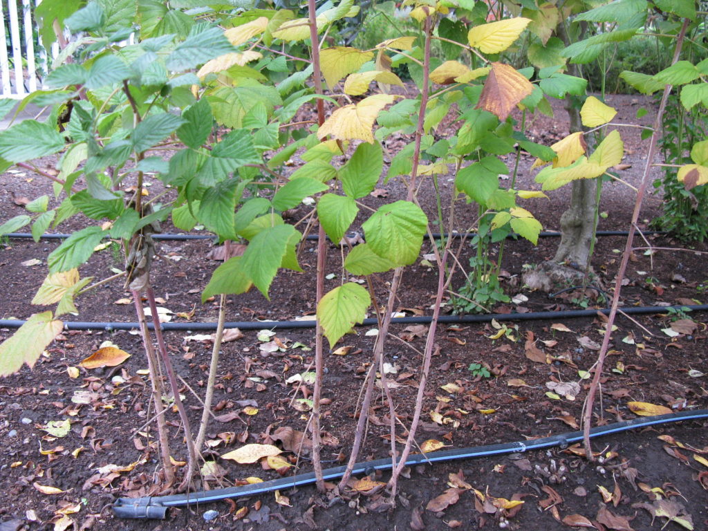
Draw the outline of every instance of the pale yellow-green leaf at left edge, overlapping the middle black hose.
<instances>
[{"instance_id":1,"label":"pale yellow-green leaf at left edge, overlapping the middle black hose","mask_svg":"<svg viewBox=\"0 0 708 531\"><path fill-rule=\"evenodd\" d=\"M0 376L20 370L23 363L35 366L42 352L64 327L55 321L52 312L33 314L14 334L0 345Z\"/></svg>"}]
</instances>

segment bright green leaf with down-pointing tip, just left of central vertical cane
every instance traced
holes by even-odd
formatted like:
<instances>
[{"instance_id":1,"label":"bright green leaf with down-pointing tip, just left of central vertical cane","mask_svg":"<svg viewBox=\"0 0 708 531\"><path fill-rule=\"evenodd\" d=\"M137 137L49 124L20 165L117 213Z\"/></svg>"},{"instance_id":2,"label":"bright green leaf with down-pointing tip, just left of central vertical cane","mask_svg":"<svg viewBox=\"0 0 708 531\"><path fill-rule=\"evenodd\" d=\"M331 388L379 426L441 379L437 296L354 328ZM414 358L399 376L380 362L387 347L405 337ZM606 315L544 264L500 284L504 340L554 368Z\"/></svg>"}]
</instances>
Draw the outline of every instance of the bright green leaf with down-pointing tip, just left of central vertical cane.
<instances>
[{"instance_id":1,"label":"bright green leaf with down-pointing tip, just left of central vertical cane","mask_svg":"<svg viewBox=\"0 0 708 531\"><path fill-rule=\"evenodd\" d=\"M241 257L241 268L266 299L270 300L270 283L273 282L275 273L278 273L288 247L292 247L293 234L299 233L292 225L283 224L263 229L253 236L244 256Z\"/></svg>"}]
</instances>

